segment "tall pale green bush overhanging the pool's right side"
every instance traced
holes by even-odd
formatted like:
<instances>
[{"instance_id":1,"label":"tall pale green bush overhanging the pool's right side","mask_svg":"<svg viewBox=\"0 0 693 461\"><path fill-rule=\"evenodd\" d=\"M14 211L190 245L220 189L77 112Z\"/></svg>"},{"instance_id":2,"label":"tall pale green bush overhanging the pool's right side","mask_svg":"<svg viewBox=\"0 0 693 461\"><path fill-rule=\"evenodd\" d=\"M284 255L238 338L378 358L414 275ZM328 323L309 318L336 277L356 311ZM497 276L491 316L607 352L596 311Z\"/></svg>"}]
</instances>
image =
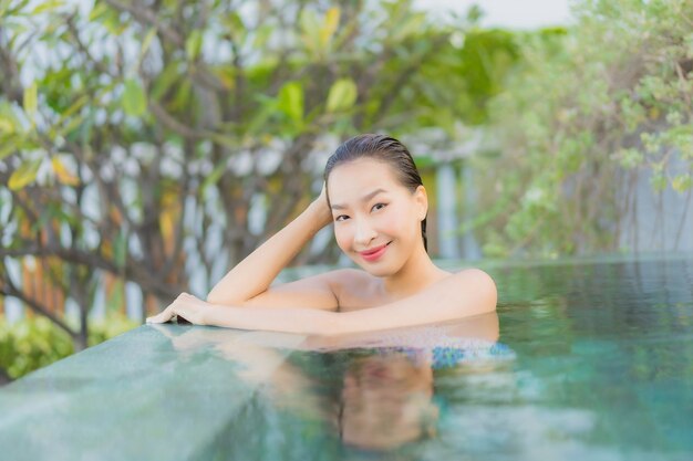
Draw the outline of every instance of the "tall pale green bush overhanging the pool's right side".
<instances>
[{"instance_id":1,"label":"tall pale green bush overhanging the pool's right side","mask_svg":"<svg viewBox=\"0 0 693 461\"><path fill-rule=\"evenodd\" d=\"M520 64L493 101L499 151L480 208L508 207L480 233L489 255L618 250L633 175L655 191L692 186L693 1L575 13L569 30L517 36Z\"/></svg>"}]
</instances>

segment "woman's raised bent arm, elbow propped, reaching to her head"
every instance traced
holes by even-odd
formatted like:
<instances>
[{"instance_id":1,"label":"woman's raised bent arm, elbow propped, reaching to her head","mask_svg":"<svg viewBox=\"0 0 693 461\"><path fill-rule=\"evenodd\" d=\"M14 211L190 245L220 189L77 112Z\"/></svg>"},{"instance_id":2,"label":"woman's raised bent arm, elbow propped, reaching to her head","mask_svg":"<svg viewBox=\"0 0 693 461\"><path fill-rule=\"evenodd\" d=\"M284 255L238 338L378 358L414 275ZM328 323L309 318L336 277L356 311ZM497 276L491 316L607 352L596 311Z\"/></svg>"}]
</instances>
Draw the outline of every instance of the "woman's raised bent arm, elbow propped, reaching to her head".
<instances>
[{"instance_id":1,"label":"woman's raised bent arm, elbow propped, reaching to her head","mask_svg":"<svg viewBox=\"0 0 693 461\"><path fill-rule=\"evenodd\" d=\"M262 307L313 307L337 310L330 275L320 274L272 287L279 272L291 262L316 233L332 221L324 190L291 221L238 265L207 295L213 304Z\"/></svg>"}]
</instances>

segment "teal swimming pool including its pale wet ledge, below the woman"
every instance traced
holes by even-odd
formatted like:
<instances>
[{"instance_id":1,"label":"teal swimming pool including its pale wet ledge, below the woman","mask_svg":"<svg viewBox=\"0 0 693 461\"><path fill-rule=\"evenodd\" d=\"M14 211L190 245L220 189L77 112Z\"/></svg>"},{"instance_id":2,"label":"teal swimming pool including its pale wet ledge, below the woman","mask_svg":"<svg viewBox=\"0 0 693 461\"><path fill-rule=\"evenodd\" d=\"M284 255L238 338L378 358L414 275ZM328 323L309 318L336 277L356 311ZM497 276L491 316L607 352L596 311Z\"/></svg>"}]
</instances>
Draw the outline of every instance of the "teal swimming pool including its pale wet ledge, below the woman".
<instances>
[{"instance_id":1,"label":"teal swimming pool including its pale wet ledge, below the woman","mask_svg":"<svg viewBox=\"0 0 693 461\"><path fill-rule=\"evenodd\" d=\"M0 388L0 459L693 459L691 259L487 270L497 317L142 326Z\"/></svg>"}]
</instances>

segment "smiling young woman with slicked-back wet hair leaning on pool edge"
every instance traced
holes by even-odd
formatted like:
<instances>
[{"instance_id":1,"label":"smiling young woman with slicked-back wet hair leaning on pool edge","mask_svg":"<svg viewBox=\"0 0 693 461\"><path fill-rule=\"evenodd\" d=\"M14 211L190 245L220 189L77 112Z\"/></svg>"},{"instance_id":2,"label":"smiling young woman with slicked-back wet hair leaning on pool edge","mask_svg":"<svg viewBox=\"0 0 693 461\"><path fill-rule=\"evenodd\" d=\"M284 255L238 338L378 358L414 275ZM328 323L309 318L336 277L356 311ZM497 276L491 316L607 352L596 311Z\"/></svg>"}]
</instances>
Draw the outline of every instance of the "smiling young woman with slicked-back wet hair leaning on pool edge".
<instances>
[{"instance_id":1,"label":"smiling young woman with slicked-back wet hair leaning on pool edge","mask_svg":"<svg viewBox=\"0 0 693 461\"><path fill-rule=\"evenodd\" d=\"M493 312L496 285L483 271L449 273L426 253L428 200L399 140L361 135L329 158L320 197L235 266L207 296L183 293L148 323L339 335L439 323ZM341 269L270 286L323 227L362 270Z\"/></svg>"}]
</instances>

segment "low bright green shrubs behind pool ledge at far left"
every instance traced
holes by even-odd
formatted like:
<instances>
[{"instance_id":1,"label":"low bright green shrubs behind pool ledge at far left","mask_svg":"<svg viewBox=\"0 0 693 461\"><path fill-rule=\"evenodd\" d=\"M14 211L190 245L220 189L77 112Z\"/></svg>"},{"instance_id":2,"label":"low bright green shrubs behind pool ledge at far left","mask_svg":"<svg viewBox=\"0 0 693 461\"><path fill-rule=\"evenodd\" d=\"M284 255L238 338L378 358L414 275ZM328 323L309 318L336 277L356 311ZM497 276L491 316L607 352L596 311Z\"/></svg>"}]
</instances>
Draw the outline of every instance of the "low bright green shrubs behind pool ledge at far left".
<instances>
[{"instance_id":1,"label":"low bright green shrubs behind pool ledge at far left","mask_svg":"<svg viewBox=\"0 0 693 461\"><path fill-rule=\"evenodd\" d=\"M137 324L121 314L110 314L105 321L91 324L89 345L136 327ZM12 379L21 378L73 354L70 335L46 317L30 317L9 324L0 317L0 368Z\"/></svg>"}]
</instances>

